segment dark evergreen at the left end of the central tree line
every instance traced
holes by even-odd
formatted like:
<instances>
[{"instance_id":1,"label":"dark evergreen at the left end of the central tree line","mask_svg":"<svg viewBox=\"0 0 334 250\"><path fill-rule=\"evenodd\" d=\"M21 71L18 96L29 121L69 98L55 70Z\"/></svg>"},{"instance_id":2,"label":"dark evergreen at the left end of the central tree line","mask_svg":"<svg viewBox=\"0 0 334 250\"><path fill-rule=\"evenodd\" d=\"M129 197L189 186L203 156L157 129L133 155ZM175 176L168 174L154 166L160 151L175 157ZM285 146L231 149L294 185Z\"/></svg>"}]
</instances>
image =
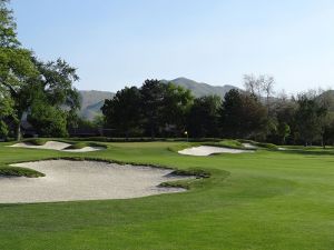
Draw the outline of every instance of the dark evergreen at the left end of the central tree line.
<instances>
[{"instance_id":1,"label":"dark evergreen at the left end of the central tree line","mask_svg":"<svg viewBox=\"0 0 334 250\"><path fill-rule=\"evenodd\" d=\"M141 97L137 87L118 91L110 100L106 100L101 108L108 128L116 129L118 134L127 138L140 130Z\"/></svg>"}]
</instances>

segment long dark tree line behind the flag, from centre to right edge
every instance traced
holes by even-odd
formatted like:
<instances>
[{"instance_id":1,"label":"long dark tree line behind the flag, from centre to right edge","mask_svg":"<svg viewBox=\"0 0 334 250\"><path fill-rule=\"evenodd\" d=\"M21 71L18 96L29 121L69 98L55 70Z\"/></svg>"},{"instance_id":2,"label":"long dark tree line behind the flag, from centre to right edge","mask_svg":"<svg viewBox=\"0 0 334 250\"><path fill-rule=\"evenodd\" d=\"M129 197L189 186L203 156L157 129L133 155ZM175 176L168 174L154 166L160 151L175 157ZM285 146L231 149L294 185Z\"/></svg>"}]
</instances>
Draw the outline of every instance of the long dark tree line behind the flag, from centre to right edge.
<instances>
[{"instance_id":1,"label":"long dark tree line behind the flag, from centre to right edge","mask_svg":"<svg viewBox=\"0 0 334 250\"><path fill-rule=\"evenodd\" d=\"M331 92L274 94L274 78L245 76L245 90L195 98L158 80L125 88L101 108L115 137L254 139L274 143L333 144Z\"/></svg>"}]
</instances>

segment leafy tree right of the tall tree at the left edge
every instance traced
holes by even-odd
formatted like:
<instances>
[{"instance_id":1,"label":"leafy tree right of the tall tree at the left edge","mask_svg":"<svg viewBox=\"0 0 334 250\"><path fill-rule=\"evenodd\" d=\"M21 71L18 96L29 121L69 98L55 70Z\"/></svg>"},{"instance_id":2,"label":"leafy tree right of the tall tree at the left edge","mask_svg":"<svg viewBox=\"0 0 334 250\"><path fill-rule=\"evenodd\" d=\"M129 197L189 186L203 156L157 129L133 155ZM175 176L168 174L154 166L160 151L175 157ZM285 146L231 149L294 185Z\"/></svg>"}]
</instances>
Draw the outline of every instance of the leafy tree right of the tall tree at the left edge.
<instances>
[{"instance_id":1,"label":"leafy tree right of the tall tree at the left edge","mask_svg":"<svg viewBox=\"0 0 334 250\"><path fill-rule=\"evenodd\" d=\"M76 121L77 111L80 108L79 93L73 88L73 82L79 78L76 74L76 69L70 67L66 61L58 59L51 62L41 62L36 58L32 59L38 74L29 78L17 92L16 111L19 118L24 112L28 113L28 121L37 128L41 128L38 121L38 112L49 110L55 114L46 116L40 120L43 126L50 128L38 129L40 136L66 136L66 130L70 123ZM35 113L37 112L37 113ZM57 119L60 119L58 121ZM65 119L65 122L62 121ZM46 120L50 121L48 124ZM53 123L53 124L51 124ZM55 128L56 126L65 126L65 128ZM48 131L45 133L45 131ZM55 134L51 133L55 131Z\"/></svg>"}]
</instances>

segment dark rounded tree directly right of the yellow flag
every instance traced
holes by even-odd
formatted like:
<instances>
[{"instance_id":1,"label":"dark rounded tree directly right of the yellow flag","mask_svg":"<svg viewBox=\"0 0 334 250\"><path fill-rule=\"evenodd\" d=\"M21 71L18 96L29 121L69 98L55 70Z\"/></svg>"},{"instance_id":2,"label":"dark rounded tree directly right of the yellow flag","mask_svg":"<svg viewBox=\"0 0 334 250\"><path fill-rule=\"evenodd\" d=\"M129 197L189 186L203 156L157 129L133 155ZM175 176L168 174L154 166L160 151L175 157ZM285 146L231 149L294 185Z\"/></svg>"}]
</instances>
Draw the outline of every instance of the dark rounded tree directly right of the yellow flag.
<instances>
[{"instance_id":1,"label":"dark rounded tree directly right of the yellow flag","mask_svg":"<svg viewBox=\"0 0 334 250\"><path fill-rule=\"evenodd\" d=\"M190 137L205 138L218 136L218 96L197 98L188 113L187 130Z\"/></svg>"}]
</instances>

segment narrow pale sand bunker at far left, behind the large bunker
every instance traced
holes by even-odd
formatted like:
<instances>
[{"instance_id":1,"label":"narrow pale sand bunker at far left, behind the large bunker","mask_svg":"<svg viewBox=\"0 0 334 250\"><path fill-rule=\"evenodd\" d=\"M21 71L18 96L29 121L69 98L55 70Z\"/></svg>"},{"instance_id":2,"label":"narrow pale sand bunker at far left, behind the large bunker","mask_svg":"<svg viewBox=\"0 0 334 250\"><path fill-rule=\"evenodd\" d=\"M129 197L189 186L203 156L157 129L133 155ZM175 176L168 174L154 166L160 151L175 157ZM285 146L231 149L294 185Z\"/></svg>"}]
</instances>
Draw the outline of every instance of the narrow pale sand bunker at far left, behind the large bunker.
<instances>
[{"instance_id":1,"label":"narrow pale sand bunker at far left, behind the large bunker","mask_svg":"<svg viewBox=\"0 0 334 250\"><path fill-rule=\"evenodd\" d=\"M98 151L102 150L102 147L85 147L82 149L66 149L68 148L69 143L66 142L60 142L60 141L47 141L42 146L36 146L29 142L20 142L12 144L10 147L14 148L29 148L29 149L53 149L53 150L60 150L60 151L66 151L66 152L91 152L91 151Z\"/></svg>"}]
</instances>

